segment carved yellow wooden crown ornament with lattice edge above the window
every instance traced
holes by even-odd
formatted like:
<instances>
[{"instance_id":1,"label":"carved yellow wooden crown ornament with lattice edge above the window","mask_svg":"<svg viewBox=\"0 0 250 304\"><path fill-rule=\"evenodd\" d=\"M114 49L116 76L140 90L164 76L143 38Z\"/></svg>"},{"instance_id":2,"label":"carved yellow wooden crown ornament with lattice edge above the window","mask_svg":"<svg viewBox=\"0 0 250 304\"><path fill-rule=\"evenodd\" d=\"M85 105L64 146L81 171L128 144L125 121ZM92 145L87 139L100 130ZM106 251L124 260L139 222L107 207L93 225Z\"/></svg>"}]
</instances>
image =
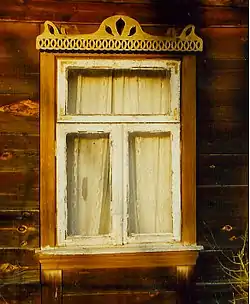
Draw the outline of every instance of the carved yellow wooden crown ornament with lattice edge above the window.
<instances>
[{"instance_id":1,"label":"carved yellow wooden crown ornament with lattice edge above the window","mask_svg":"<svg viewBox=\"0 0 250 304\"><path fill-rule=\"evenodd\" d=\"M167 36L145 33L140 24L128 16L116 15L105 19L92 34L67 35L52 22L44 23L44 32L36 39L36 48L42 51L65 52L197 52L203 50L203 41L195 34L194 25L187 25L177 36L169 29Z\"/></svg>"}]
</instances>

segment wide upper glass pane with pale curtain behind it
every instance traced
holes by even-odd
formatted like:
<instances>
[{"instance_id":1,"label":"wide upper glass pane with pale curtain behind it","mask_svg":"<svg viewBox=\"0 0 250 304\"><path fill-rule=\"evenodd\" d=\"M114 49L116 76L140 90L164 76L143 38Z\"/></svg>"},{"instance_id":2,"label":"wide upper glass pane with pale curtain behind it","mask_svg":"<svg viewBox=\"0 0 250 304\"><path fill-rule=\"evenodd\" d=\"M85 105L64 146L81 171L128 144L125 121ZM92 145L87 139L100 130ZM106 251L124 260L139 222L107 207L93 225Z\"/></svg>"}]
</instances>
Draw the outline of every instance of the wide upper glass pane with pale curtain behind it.
<instances>
[{"instance_id":1,"label":"wide upper glass pane with pale curtain behind it","mask_svg":"<svg viewBox=\"0 0 250 304\"><path fill-rule=\"evenodd\" d=\"M168 70L69 71L68 114L168 114Z\"/></svg>"}]
</instances>

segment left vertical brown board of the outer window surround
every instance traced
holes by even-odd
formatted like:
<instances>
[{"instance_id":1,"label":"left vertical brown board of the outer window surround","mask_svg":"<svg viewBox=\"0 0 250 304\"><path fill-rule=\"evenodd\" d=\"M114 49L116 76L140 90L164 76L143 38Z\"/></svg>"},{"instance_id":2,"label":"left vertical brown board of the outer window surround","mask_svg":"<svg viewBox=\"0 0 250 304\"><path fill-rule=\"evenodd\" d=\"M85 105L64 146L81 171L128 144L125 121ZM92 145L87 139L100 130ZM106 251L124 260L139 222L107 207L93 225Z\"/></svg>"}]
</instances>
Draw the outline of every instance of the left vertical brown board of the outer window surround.
<instances>
[{"instance_id":1,"label":"left vertical brown board of the outer window surround","mask_svg":"<svg viewBox=\"0 0 250 304\"><path fill-rule=\"evenodd\" d=\"M55 246L55 58L40 54L40 225L41 246Z\"/></svg>"}]
</instances>

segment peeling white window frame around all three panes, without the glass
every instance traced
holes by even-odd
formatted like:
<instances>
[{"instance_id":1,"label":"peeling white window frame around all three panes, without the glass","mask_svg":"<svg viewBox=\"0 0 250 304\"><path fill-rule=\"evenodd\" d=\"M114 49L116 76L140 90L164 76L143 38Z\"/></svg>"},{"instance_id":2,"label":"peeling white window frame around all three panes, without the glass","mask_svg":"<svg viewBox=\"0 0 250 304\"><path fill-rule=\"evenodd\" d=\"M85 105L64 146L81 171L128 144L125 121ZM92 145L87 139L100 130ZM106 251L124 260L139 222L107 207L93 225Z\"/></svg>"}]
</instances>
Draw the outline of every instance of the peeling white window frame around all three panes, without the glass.
<instances>
[{"instance_id":1,"label":"peeling white window frame around all three panes, without the glass","mask_svg":"<svg viewBox=\"0 0 250 304\"><path fill-rule=\"evenodd\" d=\"M180 183L180 65L179 59L57 59L57 243L59 246L112 245L123 248L151 243L173 243L181 240L181 183ZM171 111L169 115L68 115L69 69L168 69L170 71ZM109 133L112 142L112 229L109 235L74 236L66 238L67 231L67 172L66 136L71 133ZM172 147L172 216L173 233L127 235L128 204L128 134L133 132L170 132ZM121 138L122 141L121 142ZM118 144L116 144L118 143ZM115 172L122 172L116 175ZM159 247L159 246L158 246ZM112 251L112 249L111 249ZM148 251L148 249L147 249ZM149 248L150 251L150 248ZM152 247L153 251L153 247Z\"/></svg>"}]
</instances>

